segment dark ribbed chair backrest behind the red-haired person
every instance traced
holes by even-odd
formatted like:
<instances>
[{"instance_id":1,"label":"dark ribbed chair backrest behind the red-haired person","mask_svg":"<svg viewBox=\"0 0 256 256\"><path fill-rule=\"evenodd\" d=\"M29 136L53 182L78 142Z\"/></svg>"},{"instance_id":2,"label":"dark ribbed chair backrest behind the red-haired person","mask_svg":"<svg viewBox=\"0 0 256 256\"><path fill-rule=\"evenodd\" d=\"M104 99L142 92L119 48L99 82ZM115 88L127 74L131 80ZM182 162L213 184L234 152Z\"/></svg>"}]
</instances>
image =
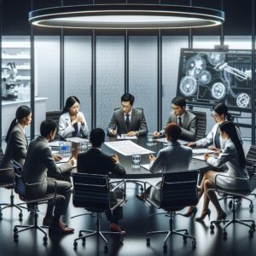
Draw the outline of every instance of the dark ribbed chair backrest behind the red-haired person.
<instances>
[{"instance_id":1,"label":"dark ribbed chair backrest behind the red-haired person","mask_svg":"<svg viewBox=\"0 0 256 256\"><path fill-rule=\"evenodd\" d=\"M195 206L198 171L170 172L163 174L160 193L160 207L166 211Z\"/></svg>"}]
</instances>

